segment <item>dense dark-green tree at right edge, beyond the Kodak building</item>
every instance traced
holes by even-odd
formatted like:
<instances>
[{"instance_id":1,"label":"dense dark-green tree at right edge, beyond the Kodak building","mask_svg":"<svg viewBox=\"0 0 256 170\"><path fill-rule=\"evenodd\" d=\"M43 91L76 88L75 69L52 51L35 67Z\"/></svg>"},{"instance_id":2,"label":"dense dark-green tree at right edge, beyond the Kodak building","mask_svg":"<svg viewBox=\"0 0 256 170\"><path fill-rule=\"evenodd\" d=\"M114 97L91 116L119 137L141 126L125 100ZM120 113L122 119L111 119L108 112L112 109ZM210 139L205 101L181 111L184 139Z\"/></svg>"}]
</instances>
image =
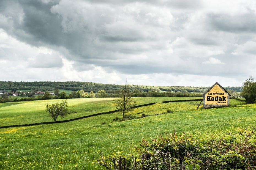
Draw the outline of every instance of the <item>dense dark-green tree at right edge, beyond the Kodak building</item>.
<instances>
[{"instance_id":1,"label":"dense dark-green tree at right edge, beyond the Kodak building","mask_svg":"<svg viewBox=\"0 0 256 170\"><path fill-rule=\"evenodd\" d=\"M245 98L246 103L255 103L256 99L256 82L250 76L249 79L244 81L241 95Z\"/></svg>"}]
</instances>

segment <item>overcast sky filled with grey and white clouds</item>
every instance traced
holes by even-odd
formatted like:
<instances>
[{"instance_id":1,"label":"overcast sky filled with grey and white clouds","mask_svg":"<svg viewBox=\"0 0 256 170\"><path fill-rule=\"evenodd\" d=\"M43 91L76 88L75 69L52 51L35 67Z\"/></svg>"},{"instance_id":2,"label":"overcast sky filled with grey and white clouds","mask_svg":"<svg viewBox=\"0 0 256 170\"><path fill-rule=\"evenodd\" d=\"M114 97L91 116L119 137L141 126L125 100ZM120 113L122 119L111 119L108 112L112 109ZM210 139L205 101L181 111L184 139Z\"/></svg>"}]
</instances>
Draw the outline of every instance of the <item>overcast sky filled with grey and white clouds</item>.
<instances>
[{"instance_id":1,"label":"overcast sky filled with grey and white clouds","mask_svg":"<svg viewBox=\"0 0 256 170\"><path fill-rule=\"evenodd\" d=\"M255 0L0 0L0 81L242 86Z\"/></svg>"}]
</instances>

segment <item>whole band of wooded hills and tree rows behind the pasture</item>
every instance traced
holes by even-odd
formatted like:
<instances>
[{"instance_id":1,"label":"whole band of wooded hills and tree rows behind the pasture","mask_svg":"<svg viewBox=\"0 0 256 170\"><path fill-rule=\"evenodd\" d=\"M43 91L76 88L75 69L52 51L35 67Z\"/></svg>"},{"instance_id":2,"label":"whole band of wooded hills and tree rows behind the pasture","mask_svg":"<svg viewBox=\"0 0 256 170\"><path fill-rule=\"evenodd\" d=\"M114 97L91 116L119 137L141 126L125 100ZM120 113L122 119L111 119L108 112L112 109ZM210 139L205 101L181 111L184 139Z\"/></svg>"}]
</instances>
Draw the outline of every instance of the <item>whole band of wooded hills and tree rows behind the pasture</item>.
<instances>
[{"instance_id":1,"label":"whole band of wooded hills and tree rows behind the pasture","mask_svg":"<svg viewBox=\"0 0 256 170\"><path fill-rule=\"evenodd\" d=\"M12 97L12 93L2 94L0 102L16 102L28 100L44 100L56 98L87 98L87 97L118 97L125 85L100 84L91 82L52 82L52 81L33 81L33 82L13 82L0 81L0 91L6 89L17 92L20 98ZM225 88L225 87L224 87ZM26 89L26 92L18 92L17 89ZM61 90L70 90L69 94ZM209 87L191 86L140 86L129 85L132 97L202 97L202 94ZM232 96L237 96L242 87L226 87ZM55 95L36 96L36 92L54 91Z\"/></svg>"}]
</instances>

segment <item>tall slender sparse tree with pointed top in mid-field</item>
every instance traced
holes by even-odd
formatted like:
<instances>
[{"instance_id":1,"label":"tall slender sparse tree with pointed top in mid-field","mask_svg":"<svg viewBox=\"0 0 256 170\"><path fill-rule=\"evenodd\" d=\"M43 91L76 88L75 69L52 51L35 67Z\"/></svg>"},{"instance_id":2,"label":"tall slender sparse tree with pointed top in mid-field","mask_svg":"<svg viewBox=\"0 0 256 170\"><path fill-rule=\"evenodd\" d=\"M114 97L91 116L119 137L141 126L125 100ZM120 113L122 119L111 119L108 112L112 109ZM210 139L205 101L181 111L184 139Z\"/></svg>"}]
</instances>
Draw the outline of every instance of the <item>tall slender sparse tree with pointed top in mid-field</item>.
<instances>
[{"instance_id":1,"label":"tall slender sparse tree with pointed top in mid-field","mask_svg":"<svg viewBox=\"0 0 256 170\"><path fill-rule=\"evenodd\" d=\"M124 114L132 111L136 103L132 98L133 94L130 91L129 86L126 83L124 85L124 88L121 90L121 92L118 95L119 97L115 98L116 109L119 112L122 112L123 118L124 118Z\"/></svg>"}]
</instances>

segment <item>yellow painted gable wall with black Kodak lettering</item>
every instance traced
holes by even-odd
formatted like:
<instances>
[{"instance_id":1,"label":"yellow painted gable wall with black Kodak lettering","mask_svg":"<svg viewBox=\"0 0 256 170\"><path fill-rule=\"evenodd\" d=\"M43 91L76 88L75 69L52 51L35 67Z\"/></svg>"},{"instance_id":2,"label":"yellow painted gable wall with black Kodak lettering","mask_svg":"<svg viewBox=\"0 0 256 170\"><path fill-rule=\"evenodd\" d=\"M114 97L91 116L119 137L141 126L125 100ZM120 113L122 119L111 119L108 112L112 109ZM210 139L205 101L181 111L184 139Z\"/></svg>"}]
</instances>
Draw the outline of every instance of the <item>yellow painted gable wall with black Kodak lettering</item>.
<instances>
[{"instance_id":1,"label":"yellow painted gable wall with black Kodak lettering","mask_svg":"<svg viewBox=\"0 0 256 170\"><path fill-rule=\"evenodd\" d=\"M228 105L228 94L217 84L205 94L206 105Z\"/></svg>"}]
</instances>

